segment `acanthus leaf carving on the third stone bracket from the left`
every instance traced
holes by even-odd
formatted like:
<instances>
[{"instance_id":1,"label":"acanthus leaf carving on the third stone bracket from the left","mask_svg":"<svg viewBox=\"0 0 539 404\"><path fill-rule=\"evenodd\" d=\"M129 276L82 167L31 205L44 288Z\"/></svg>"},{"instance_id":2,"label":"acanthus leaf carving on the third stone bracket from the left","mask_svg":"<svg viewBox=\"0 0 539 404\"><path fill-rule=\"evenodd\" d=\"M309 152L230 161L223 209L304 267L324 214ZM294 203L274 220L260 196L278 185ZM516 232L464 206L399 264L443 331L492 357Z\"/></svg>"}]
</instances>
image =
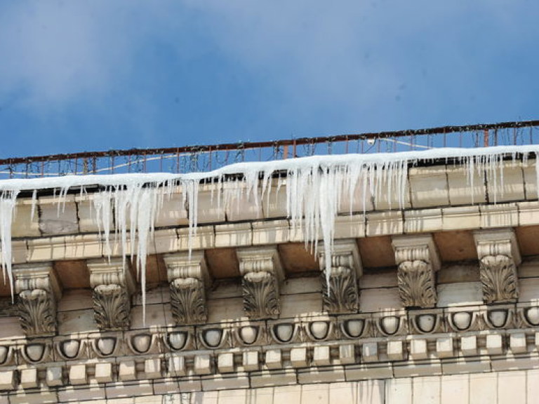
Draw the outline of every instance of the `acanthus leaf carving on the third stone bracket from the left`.
<instances>
[{"instance_id":1,"label":"acanthus leaf carving on the third stone bracket from the left","mask_svg":"<svg viewBox=\"0 0 539 404\"><path fill-rule=\"evenodd\" d=\"M172 316L178 325L206 323L204 283L197 278L177 278L171 282Z\"/></svg>"}]
</instances>

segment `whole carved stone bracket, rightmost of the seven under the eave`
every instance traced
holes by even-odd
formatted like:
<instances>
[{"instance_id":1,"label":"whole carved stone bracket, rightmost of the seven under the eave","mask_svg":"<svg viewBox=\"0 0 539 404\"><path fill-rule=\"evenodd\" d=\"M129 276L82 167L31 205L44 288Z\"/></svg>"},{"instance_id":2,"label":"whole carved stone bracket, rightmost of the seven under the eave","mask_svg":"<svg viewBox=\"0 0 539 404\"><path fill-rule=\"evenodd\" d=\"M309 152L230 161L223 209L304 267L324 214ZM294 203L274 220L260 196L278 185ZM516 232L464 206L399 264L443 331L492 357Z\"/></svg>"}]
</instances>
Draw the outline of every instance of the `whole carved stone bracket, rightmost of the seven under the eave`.
<instances>
[{"instance_id":1,"label":"whole carved stone bracket, rightmost of the seven under the eave","mask_svg":"<svg viewBox=\"0 0 539 404\"><path fill-rule=\"evenodd\" d=\"M514 231L476 231L474 239L484 302L516 302L519 297L517 265L521 256Z\"/></svg>"}]
</instances>

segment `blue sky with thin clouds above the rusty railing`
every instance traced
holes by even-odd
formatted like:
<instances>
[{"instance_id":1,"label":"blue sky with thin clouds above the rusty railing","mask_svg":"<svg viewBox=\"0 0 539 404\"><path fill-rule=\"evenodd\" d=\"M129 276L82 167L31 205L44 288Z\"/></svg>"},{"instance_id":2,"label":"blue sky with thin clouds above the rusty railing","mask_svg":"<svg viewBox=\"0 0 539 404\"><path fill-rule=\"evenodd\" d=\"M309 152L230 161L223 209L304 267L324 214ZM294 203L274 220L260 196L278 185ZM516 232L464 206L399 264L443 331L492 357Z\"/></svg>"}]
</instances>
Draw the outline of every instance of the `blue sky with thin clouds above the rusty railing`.
<instances>
[{"instance_id":1,"label":"blue sky with thin clouds above the rusty railing","mask_svg":"<svg viewBox=\"0 0 539 404\"><path fill-rule=\"evenodd\" d=\"M539 119L536 1L0 0L0 157Z\"/></svg>"}]
</instances>

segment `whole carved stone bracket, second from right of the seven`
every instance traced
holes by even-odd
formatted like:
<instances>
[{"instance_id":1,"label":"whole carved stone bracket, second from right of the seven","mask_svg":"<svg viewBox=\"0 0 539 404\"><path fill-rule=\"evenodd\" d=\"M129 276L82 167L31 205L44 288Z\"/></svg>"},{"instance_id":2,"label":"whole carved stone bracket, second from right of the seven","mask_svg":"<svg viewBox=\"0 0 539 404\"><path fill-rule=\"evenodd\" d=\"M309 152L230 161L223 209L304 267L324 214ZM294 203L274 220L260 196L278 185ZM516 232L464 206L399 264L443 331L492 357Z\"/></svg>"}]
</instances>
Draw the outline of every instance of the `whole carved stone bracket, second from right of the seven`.
<instances>
[{"instance_id":1,"label":"whole carved stone bracket, second from right of the seven","mask_svg":"<svg viewBox=\"0 0 539 404\"><path fill-rule=\"evenodd\" d=\"M435 272L440 269L440 258L432 236L395 236L392 245L404 306L435 307Z\"/></svg>"}]
</instances>

